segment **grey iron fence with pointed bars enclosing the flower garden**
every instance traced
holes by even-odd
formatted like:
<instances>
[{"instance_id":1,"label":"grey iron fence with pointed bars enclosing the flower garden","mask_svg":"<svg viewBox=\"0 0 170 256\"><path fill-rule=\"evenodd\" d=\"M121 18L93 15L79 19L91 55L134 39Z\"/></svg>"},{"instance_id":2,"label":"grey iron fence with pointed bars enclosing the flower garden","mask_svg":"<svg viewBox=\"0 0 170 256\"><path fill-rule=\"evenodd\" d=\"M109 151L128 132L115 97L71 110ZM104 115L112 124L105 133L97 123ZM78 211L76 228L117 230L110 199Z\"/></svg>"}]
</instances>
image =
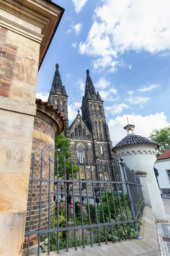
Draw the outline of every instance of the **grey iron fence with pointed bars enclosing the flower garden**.
<instances>
[{"instance_id":1,"label":"grey iron fence with pointed bars enclosing the flower garden","mask_svg":"<svg viewBox=\"0 0 170 256\"><path fill-rule=\"evenodd\" d=\"M121 161L125 181L122 181L116 160L74 163L70 158L68 166L65 157L62 162L58 157L53 162L50 155L45 161L43 155L38 160L33 154L25 232L26 255L29 255L31 241L37 243L39 256L40 252L50 254L54 249L59 252L63 248L61 239L64 239L67 251L70 244L77 249L77 246L85 247L89 243L93 246L96 241L100 245L101 241L126 240L133 229L140 239L137 219L144 206L142 188L137 175ZM51 164L55 164L56 177L51 172ZM77 172L74 166L77 166Z\"/></svg>"}]
</instances>

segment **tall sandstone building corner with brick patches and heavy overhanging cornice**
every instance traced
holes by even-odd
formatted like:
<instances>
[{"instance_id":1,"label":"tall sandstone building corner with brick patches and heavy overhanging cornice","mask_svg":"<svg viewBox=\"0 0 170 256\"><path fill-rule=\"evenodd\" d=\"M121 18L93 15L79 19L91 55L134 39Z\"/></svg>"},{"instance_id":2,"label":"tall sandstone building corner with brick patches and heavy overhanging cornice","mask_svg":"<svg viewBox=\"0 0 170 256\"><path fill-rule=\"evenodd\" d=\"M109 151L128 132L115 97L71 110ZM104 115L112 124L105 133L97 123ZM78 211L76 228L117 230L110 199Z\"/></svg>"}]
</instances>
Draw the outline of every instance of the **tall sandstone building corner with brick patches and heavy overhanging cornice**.
<instances>
[{"instance_id":1,"label":"tall sandstone building corner with brick patches and heavy overhanging cornice","mask_svg":"<svg viewBox=\"0 0 170 256\"><path fill-rule=\"evenodd\" d=\"M50 1L0 0L1 256L21 255L37 73L62 13Z\"/></svg>"}]
</instances>

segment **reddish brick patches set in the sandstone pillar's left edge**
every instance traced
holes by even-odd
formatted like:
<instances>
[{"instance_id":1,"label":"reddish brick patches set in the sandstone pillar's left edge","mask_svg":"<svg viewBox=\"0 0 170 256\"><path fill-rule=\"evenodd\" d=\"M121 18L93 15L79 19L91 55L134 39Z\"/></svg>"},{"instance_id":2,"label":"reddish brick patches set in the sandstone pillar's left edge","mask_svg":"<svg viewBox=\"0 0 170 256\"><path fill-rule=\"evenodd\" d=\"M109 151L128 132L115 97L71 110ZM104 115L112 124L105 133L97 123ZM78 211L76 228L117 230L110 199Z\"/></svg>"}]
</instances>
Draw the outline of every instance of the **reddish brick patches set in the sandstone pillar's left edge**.
<instances>
[{"instance_id":1,"label":"reddish brick patches set in the sandstone pillar's left edge","mask_svg":"<svg viewBox=\"0 0 170 256\"><path fill-rule=\"evenodd\" d=\"M0 59L7 58L15 61L17 55L17 47L6 43L6 35L8 29L0 26ZM10 91L11 78L0 75L0 96L8 97Z\"/></svg>"}]
</instances>

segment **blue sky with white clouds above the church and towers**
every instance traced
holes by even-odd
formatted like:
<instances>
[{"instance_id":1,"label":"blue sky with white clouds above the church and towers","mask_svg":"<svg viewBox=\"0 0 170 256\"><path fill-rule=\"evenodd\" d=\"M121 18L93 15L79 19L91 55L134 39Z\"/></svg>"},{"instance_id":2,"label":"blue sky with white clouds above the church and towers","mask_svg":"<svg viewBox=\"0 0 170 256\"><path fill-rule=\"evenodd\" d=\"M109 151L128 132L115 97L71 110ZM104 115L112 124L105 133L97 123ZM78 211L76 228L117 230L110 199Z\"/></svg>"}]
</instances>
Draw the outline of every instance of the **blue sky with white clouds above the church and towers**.
<instances>
[{"instance_id":1,"label":"blue sky with white clouds above the church and towers","mask_svg":"<svg viewBox=\"0 0 170 256\"><path fill-rule=\"evenodd\" d=\"M111 140L129 122L147 137L170 123L169 0L54 0L65 9L38 73L47 100L55 64L68 94L70 124L81 106L86 72L104 100ZM153 5L154 3L154 5Z\"/></svg>"}]
</instances>

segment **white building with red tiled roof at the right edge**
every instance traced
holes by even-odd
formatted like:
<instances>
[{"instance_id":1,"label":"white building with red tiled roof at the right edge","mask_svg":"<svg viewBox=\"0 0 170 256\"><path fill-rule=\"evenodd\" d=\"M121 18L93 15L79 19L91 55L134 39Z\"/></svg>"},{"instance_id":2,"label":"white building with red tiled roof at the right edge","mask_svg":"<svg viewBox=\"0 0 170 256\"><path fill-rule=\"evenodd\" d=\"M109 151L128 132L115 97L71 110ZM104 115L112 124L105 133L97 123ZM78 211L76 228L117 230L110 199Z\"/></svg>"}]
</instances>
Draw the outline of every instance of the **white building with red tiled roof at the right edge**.
<instances>
[{"instance_id":1,"label":"white building with red tiled roof at the right edge","mask_svg":"<svg viewBox=\"0 0 170 256\"><path fill-rule=\"evenodd\" d=\"M154 167L159 172L157 179L160 189L164 195L170 196L170 149L157 157Z\"/></svg>"}]
</instances>

